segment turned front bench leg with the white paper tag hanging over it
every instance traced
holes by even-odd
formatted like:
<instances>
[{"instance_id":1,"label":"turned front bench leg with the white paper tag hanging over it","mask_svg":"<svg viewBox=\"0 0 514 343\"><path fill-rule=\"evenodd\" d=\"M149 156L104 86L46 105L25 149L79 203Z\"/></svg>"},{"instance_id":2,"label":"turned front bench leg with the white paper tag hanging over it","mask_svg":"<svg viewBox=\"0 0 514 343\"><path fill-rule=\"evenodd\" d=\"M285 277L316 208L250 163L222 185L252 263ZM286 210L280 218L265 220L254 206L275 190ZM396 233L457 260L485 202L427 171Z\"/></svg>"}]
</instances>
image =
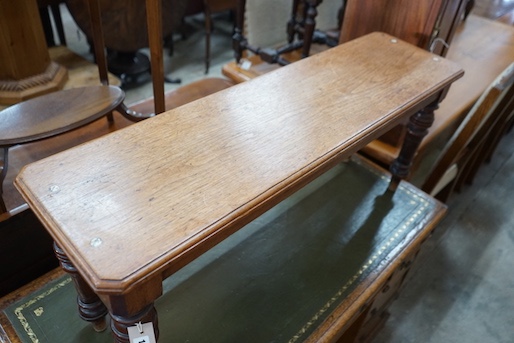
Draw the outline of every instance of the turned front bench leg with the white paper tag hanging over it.
<instances>
[{"instance_id":1,"label":"turned front bench leg with the white paper tag hanging over it","mask_svg":"<svg viewBox=\"0 0 514 343\"><path fill-rule=\"evenodd\" d=\"M127 328L136 323L152 323L155 339L159 339L159 326L157 322L157 311L152 304L145 307L133 316L121 316L111 313L111 330L116 343L130 343Z\"/></svg>"}]
</instances>

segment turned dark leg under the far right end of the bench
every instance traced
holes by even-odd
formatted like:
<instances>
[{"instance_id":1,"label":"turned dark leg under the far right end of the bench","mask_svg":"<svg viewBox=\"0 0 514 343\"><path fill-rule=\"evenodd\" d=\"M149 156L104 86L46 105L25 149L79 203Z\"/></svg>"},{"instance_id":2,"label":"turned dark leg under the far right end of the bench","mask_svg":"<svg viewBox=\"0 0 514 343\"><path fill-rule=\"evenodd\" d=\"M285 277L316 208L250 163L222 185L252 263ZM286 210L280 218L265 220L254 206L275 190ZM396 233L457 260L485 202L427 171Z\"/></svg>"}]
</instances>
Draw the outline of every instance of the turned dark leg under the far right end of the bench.
<instances>
[{"instance_id":1,"label":"turned dark leg under the far right end of the bench","mask_svg":"<svg viewBox=\"0 0 514 343\"><path fill-rule=\"evenodd\" d=\"M400 180L409 175L414 155L418 147L428 133L428 129L434 122L434 111L439 107L436 101L410 117L407 124L407 134L403 141L402 149L398 157L391 164L391 182L389 190L396 190Z\"/></svg>"}]
</instances>

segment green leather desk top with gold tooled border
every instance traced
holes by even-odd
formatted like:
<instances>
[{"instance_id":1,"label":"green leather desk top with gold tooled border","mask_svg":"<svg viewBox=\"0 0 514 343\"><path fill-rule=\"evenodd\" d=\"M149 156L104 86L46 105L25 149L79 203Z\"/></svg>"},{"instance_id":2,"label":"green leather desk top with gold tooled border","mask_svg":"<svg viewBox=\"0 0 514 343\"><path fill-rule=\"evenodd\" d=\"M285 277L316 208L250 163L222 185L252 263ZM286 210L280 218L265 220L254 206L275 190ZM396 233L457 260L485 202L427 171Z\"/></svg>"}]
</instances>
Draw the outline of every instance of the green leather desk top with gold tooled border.
<instances>
[{"instance_id":1,"label":"green leather desk top with gold tooled border","mask_svg":"<svg viewBox=\"0 0 514 343\"><path fill-rule=\"evenodd\" d=\"M160 341L301 342L336 308L356 313L444 212L407 183L386 192L384 175L340 164L168 278ZM22 341L110 342L59 282L6 310Z\"/></svg>"}]
</instances>

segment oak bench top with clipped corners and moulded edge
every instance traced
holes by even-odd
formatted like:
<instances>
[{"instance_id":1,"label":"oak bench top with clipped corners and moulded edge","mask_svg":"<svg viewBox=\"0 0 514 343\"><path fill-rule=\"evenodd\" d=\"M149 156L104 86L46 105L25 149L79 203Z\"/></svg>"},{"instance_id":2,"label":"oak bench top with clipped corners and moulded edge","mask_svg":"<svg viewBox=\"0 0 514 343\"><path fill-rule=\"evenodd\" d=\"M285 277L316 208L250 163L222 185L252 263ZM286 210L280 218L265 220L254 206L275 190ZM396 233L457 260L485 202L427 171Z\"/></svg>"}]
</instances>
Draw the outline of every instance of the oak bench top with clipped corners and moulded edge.
<instances>
[{"instance_id":1,"label":"oak bench top with clipped corners and moulded edge","mask_svg":"<svg viewBox=\"0 0 514 343\"><path fill-rule=\"evenodd\" d=\"M124 293L263 213L461 75L373 33L33 163L16 186L97 293Z\"/></svg>"}]
</instances>

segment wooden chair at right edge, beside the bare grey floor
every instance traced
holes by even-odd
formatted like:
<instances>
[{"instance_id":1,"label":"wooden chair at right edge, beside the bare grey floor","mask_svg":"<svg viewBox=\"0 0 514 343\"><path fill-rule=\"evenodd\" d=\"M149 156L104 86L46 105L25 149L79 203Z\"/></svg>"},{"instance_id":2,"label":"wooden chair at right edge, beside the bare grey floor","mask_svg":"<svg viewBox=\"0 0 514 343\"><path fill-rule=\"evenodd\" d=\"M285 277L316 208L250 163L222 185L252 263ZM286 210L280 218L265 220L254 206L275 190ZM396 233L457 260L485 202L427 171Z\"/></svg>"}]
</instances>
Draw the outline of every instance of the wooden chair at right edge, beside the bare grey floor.
<instances>
[{"instance_id":1,"label":"wooden chair at right edge, beside the bare grey floor","mask_svg":"<svg viewBox=\"0 0 514 343\"><path fill-rule=\"evenodd\" d=\"M454 133L429 173L422 189L447 201L453 190L471 181L488 156L491 141L502 134L512 120L514 63L482 94Z\"/></svg>"}]
</instances>

